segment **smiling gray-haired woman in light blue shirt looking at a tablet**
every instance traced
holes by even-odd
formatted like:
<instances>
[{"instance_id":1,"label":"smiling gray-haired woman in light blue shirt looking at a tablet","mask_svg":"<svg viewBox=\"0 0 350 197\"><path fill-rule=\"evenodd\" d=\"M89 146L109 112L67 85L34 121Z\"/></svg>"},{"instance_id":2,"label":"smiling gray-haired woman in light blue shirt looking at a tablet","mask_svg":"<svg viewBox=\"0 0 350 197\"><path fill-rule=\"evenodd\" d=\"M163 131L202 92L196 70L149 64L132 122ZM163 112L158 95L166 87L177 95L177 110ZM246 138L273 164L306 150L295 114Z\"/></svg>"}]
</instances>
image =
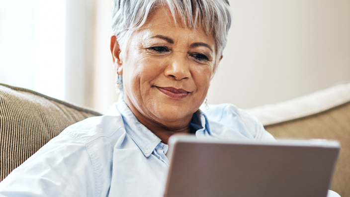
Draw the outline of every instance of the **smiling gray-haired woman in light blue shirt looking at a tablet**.
<instances>
[{"instance_id":1,"label":"smiling gray-haired woman in light blue shirt looking at a tablet","mask_svg":"<svg viewBox=\"0 0 350 197\"><path fill-rule=\"evenodd\" d=\"M114 1L118 102L48 142L1 182L0 195L163 196L171 135L273 139L234 105L199 109L230 23L227 0Z\"/></svg>"}]
</instances>

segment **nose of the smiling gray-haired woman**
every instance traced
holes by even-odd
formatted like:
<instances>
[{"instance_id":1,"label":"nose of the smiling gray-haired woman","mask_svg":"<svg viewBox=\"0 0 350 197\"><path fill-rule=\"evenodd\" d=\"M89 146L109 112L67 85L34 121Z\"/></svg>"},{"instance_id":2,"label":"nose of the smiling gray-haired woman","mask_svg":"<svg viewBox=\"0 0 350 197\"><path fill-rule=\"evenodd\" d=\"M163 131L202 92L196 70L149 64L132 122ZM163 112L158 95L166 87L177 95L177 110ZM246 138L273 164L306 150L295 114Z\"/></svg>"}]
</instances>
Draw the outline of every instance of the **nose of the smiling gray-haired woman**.
<instances>
[{"instance_id":1,"label":"nose of the smiling gray-haired woman","mask_svg":"<svg viewBox=\"0 0 350 197\"><path fill-rule=\"evenodd\" d=\"M164 74L178 81L191 76L189 64L184 58L174 58L165 69Z\"/></svg>"}]
</instances>

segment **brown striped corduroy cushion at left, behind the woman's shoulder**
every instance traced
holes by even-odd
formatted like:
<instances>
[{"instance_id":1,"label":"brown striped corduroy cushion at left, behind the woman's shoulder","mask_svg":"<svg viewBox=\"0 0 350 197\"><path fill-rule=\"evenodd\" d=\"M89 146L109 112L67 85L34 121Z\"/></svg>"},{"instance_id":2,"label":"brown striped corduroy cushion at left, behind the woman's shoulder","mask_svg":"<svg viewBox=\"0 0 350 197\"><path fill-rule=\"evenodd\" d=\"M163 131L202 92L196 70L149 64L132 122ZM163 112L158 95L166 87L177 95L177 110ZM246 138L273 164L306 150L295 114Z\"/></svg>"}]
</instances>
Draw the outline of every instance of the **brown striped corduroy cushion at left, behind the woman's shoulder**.
<instances>
[{"instance_id":1,"label":"brown striped corduroy cushion at left, behind the woman's shoulder","mask_svg":"<svg viewBox=\"0 0 350 197\"><path fill-rule=\"evenodd\" d=\"M0 181L66 127L98 115L31 90L0 84Z\"/></svg>"}]
</instances>

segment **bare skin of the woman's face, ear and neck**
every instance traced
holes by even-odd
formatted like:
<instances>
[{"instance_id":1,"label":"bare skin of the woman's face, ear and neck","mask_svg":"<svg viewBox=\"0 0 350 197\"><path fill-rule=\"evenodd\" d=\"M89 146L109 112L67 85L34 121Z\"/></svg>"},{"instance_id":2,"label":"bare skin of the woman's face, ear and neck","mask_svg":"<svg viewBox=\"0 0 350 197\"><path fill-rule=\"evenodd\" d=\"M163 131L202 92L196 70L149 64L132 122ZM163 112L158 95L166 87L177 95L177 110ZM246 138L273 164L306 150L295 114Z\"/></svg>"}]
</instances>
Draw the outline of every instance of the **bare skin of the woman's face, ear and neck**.
<instances>
[{"instance_id":1,"label":"bare skin of the woman's face, ear and neck","mask_svg":"<svg viewBox=\"0 0 350 197\"><path fill-rule=\"evenodd\" d=\"M115 71L123 76L124 101L136 118L165 144L175 133L188 133L222 58L215 53L214 38L200 28L176 25L162 7L131 35L125 51L115 36L110 49ZM186 93L174 98L167 87Z\"/></svg>"}]
</instances>

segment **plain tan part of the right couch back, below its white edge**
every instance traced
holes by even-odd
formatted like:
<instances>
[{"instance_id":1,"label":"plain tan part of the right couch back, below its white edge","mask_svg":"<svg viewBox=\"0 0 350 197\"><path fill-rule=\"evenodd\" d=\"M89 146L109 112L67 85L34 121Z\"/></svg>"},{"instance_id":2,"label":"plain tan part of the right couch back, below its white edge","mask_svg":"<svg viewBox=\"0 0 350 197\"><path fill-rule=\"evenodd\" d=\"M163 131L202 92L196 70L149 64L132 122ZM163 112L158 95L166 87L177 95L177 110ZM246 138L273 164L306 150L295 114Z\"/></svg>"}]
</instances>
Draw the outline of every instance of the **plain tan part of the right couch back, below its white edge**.
<instances>
[{"instance_id":1,"label":"plain tan part of the right couch back, below its white edge","mask_svg":"<svg viewBox=\"0 0 350 197\"><path fill-rule=\"evenodd\" d=\"M350 102L335 108L273 125L265 129L276 138L338 140L341 150L331 190L350 196Z\"/></svg>"}]
</instances>

